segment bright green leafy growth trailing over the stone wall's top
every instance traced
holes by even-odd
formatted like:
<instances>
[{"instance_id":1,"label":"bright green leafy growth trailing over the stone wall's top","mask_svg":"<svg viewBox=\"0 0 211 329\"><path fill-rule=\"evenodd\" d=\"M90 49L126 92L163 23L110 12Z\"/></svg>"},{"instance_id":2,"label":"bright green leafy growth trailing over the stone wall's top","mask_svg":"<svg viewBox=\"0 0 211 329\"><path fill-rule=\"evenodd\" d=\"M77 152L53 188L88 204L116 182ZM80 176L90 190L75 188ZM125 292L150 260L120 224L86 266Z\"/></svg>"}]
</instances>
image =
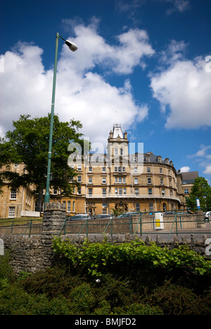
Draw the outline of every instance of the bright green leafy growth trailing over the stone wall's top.
<instances>
[{"instance_id":1,"label":"bright green leafy growth trailing over the stone wall's top","mask_svg":"<svg viewBox=\"0 0 211 329\"><path fill-rule=\"evenodd\" d=\"M82 245L73 245L70 240L54 238L53 250L70 259L75 266L83 266L91 276L102 276L109 266L121 263L143 263L149 269L164 268L172 271L179 268L200 275L211 274L211 263L186 246L168 250L155 243L146 246L142 240L119 245L107 243L106 240L103 243L90 243L86 240Z\"/></svg>"}]
</instances>

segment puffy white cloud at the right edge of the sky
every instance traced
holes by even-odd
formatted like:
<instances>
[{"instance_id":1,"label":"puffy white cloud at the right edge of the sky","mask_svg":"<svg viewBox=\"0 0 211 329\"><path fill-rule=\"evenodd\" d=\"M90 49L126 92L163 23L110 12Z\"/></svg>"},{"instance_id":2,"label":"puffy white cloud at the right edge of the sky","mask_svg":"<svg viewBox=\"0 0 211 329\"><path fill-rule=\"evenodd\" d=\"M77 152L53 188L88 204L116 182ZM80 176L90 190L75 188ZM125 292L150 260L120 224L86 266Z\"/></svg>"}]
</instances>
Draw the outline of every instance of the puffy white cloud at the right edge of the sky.
<instances>
[{"instance_id":1,"label":"puffy white cloud at the right edge of the sky","mask_svg":"<svg viewBox=\"0 0 211 329\"><path fill-rule=\"evenodd\" d=\"M181 53L180 53L181 54ZM178 59L179 57L179 59ZM172 57L169 67L151 75L153 96L167 115L167 129L196 129L211 126L211 74L202 57L184 60ZM168 110L168 111L167 111Z\"/></svg>"}]
</instances>

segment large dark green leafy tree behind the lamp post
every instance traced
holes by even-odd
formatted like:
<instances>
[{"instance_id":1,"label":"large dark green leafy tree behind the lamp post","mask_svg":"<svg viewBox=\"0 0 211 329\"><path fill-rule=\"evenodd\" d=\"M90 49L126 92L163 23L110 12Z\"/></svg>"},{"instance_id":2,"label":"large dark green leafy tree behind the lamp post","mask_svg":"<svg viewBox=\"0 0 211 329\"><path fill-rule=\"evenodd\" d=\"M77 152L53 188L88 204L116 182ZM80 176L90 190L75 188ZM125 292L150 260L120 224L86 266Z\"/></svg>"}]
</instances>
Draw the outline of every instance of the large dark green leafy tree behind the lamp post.
<instances>
[{"instance_id":1,"label":"large dark green leafy tree behind the lamp post","mask_svg":"<svg viewBox=\"0 0 211 329\"><path fill-rule=\"evenodd\" d=\"M6 138L0 140L0 168L3 164L7 166L1 172L1 180L8 180L9 187L17 190L20 186L33 184L38 211L41 211L46 188L50 121L50 115L34 119L30 115L21 115L18 121L13 122L13 131L8 131ZM68 146L74 142L83 148L80 128L82 124L79 121L60 122L54 115L50 188L59 188L61 195L70 196L73 186L77 185L74 179L77 173L68 165L68 157L72 153ZM11 172L9 165L14 163L24 165L21 174Z\"/></svg>"}]
</instances>

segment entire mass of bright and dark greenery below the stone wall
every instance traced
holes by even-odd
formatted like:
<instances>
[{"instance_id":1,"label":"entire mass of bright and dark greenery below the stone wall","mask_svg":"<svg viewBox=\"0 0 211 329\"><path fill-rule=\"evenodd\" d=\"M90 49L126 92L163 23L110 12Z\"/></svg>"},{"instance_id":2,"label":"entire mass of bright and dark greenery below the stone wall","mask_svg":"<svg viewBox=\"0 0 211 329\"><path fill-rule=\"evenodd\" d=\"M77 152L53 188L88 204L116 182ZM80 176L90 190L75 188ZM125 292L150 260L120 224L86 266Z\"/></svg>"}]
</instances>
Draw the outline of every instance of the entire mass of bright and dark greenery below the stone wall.
<instances>
[{"instance_id":1,"label":"entire mass of bright and dark greenery below the stone wall","mask_svg":"<svg viewBox=\"0 0 211 329\"><path fill-rule=\"evenodd\" d=\"M211 314L210 262L190 250L60 239L54 249L65 265L33 274L14 277L0 259L0 315Z\"/></svg>"}]
</instances>

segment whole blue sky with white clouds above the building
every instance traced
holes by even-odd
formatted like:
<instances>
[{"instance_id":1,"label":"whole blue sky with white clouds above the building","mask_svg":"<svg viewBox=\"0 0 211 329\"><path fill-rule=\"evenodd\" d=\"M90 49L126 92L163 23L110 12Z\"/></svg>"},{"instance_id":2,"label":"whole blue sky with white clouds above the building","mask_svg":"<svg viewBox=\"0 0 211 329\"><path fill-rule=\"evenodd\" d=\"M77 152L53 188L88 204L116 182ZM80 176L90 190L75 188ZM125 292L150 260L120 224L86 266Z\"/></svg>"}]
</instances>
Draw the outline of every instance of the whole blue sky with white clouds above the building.
<instances>
[{"instance_id":1,"label":"whole blue sky with white clouds above the building","mask_svg":"<svg viewBox=\"0 0 211 329\"><path fill-rule=\"evenodd\" d=\"M83 124L94 147L117 121L144 152L211 183L210 0L1 0L0 136L21 114Z\"/></svg>"}]
</instances>

